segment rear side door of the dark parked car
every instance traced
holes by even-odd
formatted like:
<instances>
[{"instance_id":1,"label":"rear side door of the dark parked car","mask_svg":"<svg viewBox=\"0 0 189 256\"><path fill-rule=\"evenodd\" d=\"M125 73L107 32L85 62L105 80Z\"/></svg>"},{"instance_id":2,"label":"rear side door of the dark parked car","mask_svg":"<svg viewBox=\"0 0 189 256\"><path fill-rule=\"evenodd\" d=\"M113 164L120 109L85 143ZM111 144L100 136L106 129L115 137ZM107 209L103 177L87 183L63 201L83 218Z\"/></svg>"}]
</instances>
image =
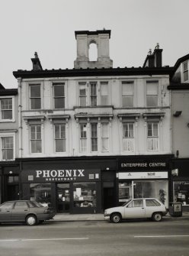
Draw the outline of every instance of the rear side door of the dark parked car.
<instances>
[{"instance_id":1,"label":"rear side door of the dark parked car","mask_svg":"<svg viewBox=\"0 0 189 256\"><path fill-rule=\"evenodd\" d=\"M27 212L29 212L29 207L27 206L26 202L16 202L14 208L12 209L11 221L24 222Z\"/></svg>"}]
</instances>

